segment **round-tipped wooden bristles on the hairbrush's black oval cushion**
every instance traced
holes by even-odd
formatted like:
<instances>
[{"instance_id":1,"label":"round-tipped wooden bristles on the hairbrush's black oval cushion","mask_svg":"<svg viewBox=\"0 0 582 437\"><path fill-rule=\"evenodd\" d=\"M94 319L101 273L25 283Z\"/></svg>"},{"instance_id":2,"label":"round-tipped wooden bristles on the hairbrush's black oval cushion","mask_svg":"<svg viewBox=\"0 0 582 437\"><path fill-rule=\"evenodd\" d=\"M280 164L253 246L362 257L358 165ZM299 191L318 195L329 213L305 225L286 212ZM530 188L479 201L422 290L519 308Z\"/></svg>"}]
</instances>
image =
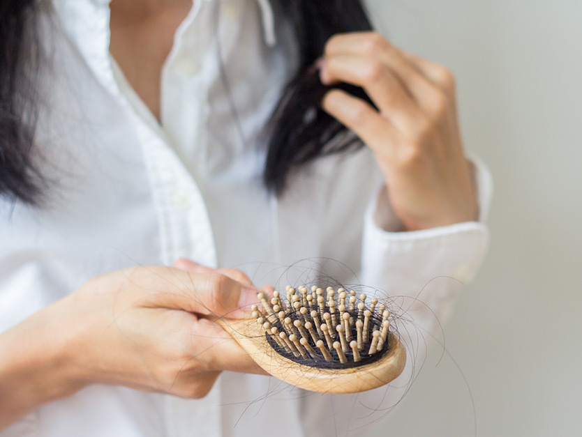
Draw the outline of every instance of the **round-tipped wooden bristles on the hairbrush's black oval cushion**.
<instances>
[{"instance_id":1,"label":"round-tipped wooden bristles on the hairbrush's black oval cushion","mask_svg":"<svg viewBox=\"0 0 582 437\"><path fill-rule=\"evenodd\" d=\"M310 367L343 369L367 365L389 350L390 314L377 299L355 291L287 286L284 300L259 293L253 317L269 345L285 358Z\"/></svg>"}]
</instances>

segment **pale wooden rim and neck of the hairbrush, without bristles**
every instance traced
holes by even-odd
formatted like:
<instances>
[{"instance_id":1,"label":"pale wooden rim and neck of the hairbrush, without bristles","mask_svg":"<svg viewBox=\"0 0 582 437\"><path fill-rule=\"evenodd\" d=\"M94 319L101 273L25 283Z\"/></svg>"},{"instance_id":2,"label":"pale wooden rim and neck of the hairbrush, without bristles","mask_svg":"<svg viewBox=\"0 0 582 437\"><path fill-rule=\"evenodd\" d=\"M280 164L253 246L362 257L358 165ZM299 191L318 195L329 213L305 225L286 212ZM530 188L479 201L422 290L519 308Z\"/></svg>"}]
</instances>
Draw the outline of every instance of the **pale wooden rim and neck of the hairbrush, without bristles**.
<instances>
[{"instance_id":1,"label":"pale wooden rim and neck of the hairbrush, without bristles","mask_svg":"<svg viewBox=\"0 0 582 437\"><path fill-rule=\"evenodd\" d=\"M355 393L378 388L400 375L406 362L405 348L391 332L388 334L389 350L375 362L348 369L324 369L302 365L280 355L253 319L216 319L216 322L267 373L313 392Z\"/></svg>"}]
</instances>

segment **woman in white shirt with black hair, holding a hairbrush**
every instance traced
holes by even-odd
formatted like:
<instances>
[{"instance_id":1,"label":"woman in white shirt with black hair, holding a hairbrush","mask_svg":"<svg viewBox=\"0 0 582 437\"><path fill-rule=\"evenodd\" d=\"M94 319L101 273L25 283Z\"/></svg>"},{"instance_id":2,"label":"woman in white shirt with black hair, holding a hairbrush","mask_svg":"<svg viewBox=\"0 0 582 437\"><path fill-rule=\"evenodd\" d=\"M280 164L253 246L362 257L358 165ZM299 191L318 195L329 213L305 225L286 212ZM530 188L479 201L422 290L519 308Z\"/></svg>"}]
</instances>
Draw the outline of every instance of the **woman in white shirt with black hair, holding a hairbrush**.
<instances>
[{"instance_id":1,"label":"woman in white shirt with black hair, holding a hairbrush","mask_svg":"<svg viewBox=\"0 0 582 437\"><path fill-rule=\"evenodd\" d=\"M352 397L251 375L204 316L330 258L436 335L487 240L450 73L358 1L5 4L0 434L357 428Z\"/></svg>"}]
</instances>

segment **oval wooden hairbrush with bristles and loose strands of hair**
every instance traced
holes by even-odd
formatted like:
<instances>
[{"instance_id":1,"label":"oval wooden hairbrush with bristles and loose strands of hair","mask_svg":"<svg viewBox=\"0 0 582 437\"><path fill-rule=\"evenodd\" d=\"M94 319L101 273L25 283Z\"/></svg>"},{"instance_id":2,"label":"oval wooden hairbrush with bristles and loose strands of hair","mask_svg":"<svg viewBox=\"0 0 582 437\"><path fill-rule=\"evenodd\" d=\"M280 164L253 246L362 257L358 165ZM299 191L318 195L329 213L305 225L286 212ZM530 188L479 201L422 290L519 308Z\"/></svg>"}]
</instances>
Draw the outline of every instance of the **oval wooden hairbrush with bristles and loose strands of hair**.
<instances>
[{"instance_id":1,"label":"oval wooden hairbrush with bristles and loose strands of hair","mask_svg":"<svg viewBox=\"0 0 582 437\"><path fill-rule=\"evenodd\" d=\"M253 318L217 319L251 358L285 383L315 392L353 393L378 388L401 374L405 349L391 332L391 316L377 299L336 291L287 287Z\"/></svg>"}]
</instances>

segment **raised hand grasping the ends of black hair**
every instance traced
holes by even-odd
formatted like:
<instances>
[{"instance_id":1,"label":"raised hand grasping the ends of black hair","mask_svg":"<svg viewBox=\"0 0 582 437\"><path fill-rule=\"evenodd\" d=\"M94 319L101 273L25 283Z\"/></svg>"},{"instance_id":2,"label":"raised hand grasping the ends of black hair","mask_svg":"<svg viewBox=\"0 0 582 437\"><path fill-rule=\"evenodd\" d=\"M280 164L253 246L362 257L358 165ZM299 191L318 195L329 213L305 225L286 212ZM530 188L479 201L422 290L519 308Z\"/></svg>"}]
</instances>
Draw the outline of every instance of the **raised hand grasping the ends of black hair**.
<instances>
[{"instance_id":1,"label":"raised hand grasping the ends of black hair","mask_svg":"<svg viewBox=\"0 0 582 437\"><path fill-rule=\"evenodd\" d=\"M361 86L378 107L338 89L322 102L375 153L386 200L405 230L477 219L448 70L397 49L378 33L364 32L331 38L320 76L324 84Z\"/></svg>"}]
</instances>

